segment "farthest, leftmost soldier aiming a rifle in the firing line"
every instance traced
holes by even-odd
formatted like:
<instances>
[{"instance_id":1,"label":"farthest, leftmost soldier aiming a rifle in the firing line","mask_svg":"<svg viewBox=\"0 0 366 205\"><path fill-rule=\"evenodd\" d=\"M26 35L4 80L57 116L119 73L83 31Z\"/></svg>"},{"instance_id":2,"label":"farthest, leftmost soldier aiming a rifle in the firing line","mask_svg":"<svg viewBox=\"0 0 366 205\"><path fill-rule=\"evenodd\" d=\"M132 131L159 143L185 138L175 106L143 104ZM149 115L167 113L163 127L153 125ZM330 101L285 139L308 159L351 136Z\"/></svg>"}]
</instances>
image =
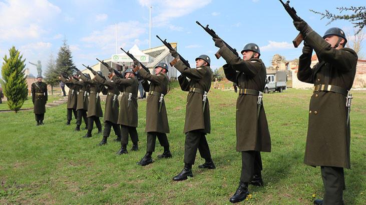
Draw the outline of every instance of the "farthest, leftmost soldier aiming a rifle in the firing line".
<instances>
[{"instance_id":1,"label":"farthest, leftmost soldier aiming a rifle in the firing line","mask_svg":"<svg viewBox=\"0 0 366 205\"><path fill-rule=\"evenodd\" d=\"M76 77L77 73L74 72L72 77ZM72 78L65 78L64 76L59 76L59 79L63 81L66 86L69 87L69 94L68 94L68 103L67 103L67 122L66 124L69 125L70 121L72 120L72 114L74 113L74 117L77 118L76 114L76 105L77 105L77 95L79 90L79 85L76 85L72 82Z\"/></svg>"}]
</instances>

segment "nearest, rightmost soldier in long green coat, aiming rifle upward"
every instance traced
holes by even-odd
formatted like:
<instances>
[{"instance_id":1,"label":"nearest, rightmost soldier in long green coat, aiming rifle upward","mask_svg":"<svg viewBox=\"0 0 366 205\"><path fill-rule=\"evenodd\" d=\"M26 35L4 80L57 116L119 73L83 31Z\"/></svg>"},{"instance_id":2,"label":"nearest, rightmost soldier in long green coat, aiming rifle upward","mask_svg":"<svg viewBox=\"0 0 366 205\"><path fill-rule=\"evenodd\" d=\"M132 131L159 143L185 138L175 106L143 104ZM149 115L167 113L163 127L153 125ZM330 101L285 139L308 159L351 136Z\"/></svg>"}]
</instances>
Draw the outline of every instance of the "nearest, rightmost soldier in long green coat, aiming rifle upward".
<instances>
[{"instance_id":1,"label":"nearest, rightmost soldier in long green coat, aiming rifle upward","mask_svg":"<svg viewBox=\"0 0 366 205\"><path fill-rule=\"evenodd\" d=\"M304 20L293 23L305 41L297 78L314 84L304 163L320 166L325 188L324 200L316 199L314 203L344 204L343 168L350 168L350 104L347 106L347 96L358 57L354 50L344 47L347 39L340 28L329 28L320 36ZM313 50L319 62L310 68Z\"/></svg>"}]
</instances>

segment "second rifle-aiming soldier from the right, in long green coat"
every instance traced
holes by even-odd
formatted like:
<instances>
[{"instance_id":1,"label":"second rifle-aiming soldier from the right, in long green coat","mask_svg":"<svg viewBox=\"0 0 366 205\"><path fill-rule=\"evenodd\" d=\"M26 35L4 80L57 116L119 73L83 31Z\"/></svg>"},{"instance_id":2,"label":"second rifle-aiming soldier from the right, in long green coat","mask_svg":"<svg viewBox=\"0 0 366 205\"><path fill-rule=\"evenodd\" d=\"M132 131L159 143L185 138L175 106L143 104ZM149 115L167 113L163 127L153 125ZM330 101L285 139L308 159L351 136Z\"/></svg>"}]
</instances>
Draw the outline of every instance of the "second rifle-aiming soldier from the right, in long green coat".
<instances>
[{"instance_id":1,"label":"second rifle-aiming soldier from the right, in long green coat","mask_svg":"<svg viewBox=\"0 0 366 205\"><path fill-rule=\"evenodd\" d=\"M271 139L262 103L262 91L266 80L266 67L257 44L248 43L236 56L220 38L213 38L226 60L223 65L228 80L236 82L239 96L236 101L236 150L241 152L241 176L239 187L230 202L239 202L249 194L248 184L262 186L262 159L260 151L271 151Z\"/></svg>"}]
</instances>

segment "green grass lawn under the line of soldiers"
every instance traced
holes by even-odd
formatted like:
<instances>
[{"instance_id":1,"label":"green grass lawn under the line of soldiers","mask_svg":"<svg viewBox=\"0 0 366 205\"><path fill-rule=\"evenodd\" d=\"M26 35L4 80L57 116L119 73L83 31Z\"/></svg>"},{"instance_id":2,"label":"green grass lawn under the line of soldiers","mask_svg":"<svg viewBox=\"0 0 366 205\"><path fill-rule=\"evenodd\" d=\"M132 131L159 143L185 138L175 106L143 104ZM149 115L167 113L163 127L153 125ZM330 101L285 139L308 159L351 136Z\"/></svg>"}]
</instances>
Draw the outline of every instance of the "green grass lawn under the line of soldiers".
<instances>
[{"instance_id":1,"label":"green grass lawn under the line of soldiers","mask_svg":"<svg viewBox=\"0 0 366 205\"><path fill-rule=\"evenodd\" d=\"M98 147L102 135L96 128L85 139L86 130L73 131L75 119L65 125L66 104L48 108L43 126L35 126L32 111L0 113L0 203L230 204L241 169L241 155L235 151L237 94L211 90L207 140L217 168L198 169L204 159L197 152L194 177L180 182L172 177L183 168L187 92L178 88L165 98L173 158L157 158L163 151L157 141L155 162L145 167L136 165L146 150L145 100L139 100L139 150L130 151L130 140L125 155L116 155L120 144L113 141L114 134ZM320 167L303 164L310 96L311 90L295 89L264 95L272 152L262 153L265 185L250 185L252 198L242 204L312 204L313 194L322 197ZM366 91L353 91L353 96L344 200L365 204Z\"/></svg>"}]
</instances>

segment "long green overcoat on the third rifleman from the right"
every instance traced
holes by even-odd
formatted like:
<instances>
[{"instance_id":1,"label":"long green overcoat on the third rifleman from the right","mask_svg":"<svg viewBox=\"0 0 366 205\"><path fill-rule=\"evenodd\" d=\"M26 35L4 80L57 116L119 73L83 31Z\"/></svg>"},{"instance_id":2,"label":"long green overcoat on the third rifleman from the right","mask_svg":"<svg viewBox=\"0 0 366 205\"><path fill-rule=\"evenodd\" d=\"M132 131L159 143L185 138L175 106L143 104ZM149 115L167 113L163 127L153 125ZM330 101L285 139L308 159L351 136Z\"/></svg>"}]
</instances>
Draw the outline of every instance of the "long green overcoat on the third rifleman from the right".
<instances>
[{"instance_id":1,"label":"long green overcoat on the third rifleman from the right","mask_svg":"<svg viewBox=\"0 0 366 205\"><path fill-rule=\"evenodd\" d=\"M174 66L182 73L178 76L181 89L183 91L188 91L186 119L183 132L186 133L192 130L200 130L204 133L210 133L211 121L208 97L203 111L202 93L189 91L190 88L198 88L208 93L212 79L212 70L210 66L202 65L198 68L190 68L181 60L178 60ZM187 77L190 78L190 80L188 80Z\"/></svg>"}]
</instances>

